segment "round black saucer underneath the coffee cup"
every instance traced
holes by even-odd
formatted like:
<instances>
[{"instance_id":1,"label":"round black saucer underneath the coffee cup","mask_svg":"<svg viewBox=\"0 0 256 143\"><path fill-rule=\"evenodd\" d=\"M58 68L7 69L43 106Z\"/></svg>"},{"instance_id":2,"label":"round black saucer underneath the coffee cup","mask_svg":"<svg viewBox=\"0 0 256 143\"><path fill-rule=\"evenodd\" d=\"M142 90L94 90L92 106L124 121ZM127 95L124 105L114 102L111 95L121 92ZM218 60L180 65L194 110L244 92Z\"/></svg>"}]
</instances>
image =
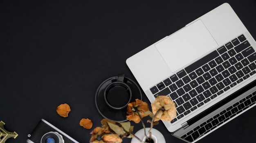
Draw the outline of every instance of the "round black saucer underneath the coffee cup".
<instances>
[{"instance_id":1,"label":"round black saucer underneath the coffee cup","mask_svg":"<svg viewBox=\"0 0 256 143\"><path fill-rule=\"evenodd\" d=\"M110 119L113 121L127 121L126 116L128 115L127 108L121 110L115 110L110 108L105 102L104 99L104 91L106 87L112 83L117 81L117 76L113 76L111 78L106 79L99 85L96 93L95 93L95 105L99 113L106 119ZM130 90L132 91L132 98L130 102L135 102L135 99L142 100L141 91L139 86L130 78L124 77L124 83L126 83Z\"/></svg>"}]
</instances>

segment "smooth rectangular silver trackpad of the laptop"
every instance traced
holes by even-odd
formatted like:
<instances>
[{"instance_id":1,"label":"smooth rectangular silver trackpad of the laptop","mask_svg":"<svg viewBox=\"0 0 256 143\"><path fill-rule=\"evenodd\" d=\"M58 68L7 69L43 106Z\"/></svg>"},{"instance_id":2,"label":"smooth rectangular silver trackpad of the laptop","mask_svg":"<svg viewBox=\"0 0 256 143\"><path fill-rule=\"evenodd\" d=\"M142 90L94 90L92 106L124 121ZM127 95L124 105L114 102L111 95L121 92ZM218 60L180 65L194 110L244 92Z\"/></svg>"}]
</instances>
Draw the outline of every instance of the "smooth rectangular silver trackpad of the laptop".
<instances>
[{"instance_id":1,"label":"smooth rectangular silver trackpad of the laptop","mask_svg":"<svg viewBox=\"0 0 256 143\"><path fill-rule=\"evenodd\" d=\"M203 22L198 20L155 46L171 72L175 72L218 47L218 44Z\"/></svg>"}]
</instances>

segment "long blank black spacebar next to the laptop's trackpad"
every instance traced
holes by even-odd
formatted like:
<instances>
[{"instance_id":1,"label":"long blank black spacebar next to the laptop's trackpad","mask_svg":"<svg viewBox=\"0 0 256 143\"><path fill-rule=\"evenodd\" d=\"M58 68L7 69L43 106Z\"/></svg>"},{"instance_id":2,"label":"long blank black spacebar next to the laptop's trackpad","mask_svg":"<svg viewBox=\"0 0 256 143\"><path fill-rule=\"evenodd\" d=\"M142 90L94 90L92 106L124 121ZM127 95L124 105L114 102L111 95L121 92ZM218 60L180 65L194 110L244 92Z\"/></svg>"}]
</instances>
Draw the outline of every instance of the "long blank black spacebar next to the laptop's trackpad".
<instances>
[{"instance_id":1,"label":"long blank black spacebar next to the laptop's trackpad","mask_svg":"<svg viewBox=\"0 0 256 143\"><path fill-rule=\"evenodd\" d=\"M189 74L189 73L193 72L195 69L198 69L202 65L204 65L204 64L208 63L209 61L211 61L212 59L216 58L217 56L219 56L219 53L216 50L214 50L213 52L211 52L211 53L207 54L206 56L200 58L195 63L185 67L185 70Z\"/></svg>"}]
</instances>

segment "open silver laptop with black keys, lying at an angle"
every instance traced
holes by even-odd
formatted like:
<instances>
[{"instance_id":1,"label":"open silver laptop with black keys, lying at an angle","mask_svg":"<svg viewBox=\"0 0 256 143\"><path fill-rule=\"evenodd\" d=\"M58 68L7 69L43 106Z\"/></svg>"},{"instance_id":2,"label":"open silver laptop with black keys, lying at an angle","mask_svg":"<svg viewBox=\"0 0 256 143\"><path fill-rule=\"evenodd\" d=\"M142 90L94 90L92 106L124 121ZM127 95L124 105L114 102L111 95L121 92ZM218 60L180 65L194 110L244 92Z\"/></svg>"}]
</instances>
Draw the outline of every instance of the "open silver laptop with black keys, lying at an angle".
<instances>
[{"instance_id":1,"label":"open silver laptop with black keys, lying at an angle","mask_svg":"<svg viewBox=\"0 0 256 143\"><path fill-rule=\"evenodd\" d=\"M227 3L126 60L153 102L166 95L177 117L164 125L194 143L255 106L256 41Z\"/></svg>"}]
</instances>

